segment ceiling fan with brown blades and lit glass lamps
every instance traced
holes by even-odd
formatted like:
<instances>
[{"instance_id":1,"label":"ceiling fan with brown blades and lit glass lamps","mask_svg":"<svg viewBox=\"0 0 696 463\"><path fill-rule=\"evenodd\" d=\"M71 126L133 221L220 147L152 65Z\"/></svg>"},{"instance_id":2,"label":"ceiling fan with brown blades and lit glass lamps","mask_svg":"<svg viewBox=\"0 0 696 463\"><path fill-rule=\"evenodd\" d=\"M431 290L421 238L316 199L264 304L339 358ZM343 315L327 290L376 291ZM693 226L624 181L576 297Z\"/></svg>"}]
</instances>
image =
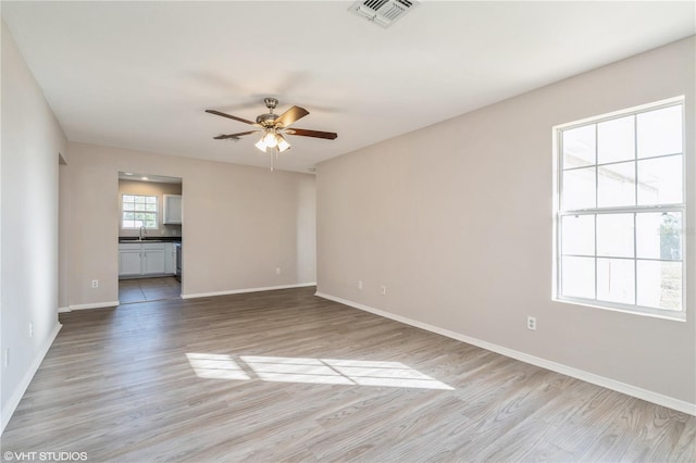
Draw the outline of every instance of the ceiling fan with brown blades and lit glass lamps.
<instances>
[{"instance_id":1,"label":"ceiling fan with brown blades and lit glass lamps","mask_svg":"<svg viewBox=\"0 0 696 463\"><path fill-rule=\"evenodd\" d=\"M250 134L261 133L261 139L254 145L258 149L263 152L266 152L266 149L275 148L275 152L283 152L290 148L290 143L287 142L284 135L298 135L300 137L313 137L313 138L325 138L328 140L334 140L338 135L333 132L319 132L319 130L308 130L306 128L290 128L290 125L296 121L304 117L309 114L304 108L293 107L283 114L274 114L273 110L278 104L278 100L275 98L264 98L263 102L265 107L269 109L266 114L261 114L257 116L257 122L247 121L246 118L237 117L232 114L225 114L215 110L206 110L207 113L215 114L219 116L232 118L234 121L244 122L245 124L253 125L257 127L254 130L240 132L238 134L229 134L229 135L219 135L213 137L215 140L226 140L234 139L238 140L239 137ZM273 167L271 167L273 168Z\"/></svg>"}]
</instances>

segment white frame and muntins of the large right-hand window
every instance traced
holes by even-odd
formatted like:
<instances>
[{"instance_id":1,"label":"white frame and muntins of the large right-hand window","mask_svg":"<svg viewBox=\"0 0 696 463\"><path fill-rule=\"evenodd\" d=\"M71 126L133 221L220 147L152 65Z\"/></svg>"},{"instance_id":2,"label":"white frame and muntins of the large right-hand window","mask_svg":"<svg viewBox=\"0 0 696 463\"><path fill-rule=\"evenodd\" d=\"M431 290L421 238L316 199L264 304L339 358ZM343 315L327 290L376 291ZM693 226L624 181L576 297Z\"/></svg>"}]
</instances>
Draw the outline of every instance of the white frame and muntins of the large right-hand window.
<instances>
[{"instance_id":1,"label":"white frame and muntins of the large right-hand window","mask_svg":"<svg viewBox=\"0 0 696 463\"><path fill-rule=\"evenodd\" d=\"M656 111L656 110L660 110L660 109L664 109L664 108L670 108L670 107L675 107L675 105L681 105L682 107L682 203L680 204L659 204L659 205L638 205L636 202L636 205L632 205L632 207L595 207L595 208L588 208L588 209L584 209L584 210L573 210L573 211L564 211L561 210L562 207L562 178L563 178L563 148L562 148L562 133L564 130L569 130L572 128L577 128L577 127L582 127L582 126L586 126L586 125L593 125L593 124L599 124L601 122L606 122L606 121L611 121L614 118L620 118L620 117L625 117L625 116L630 116L630 115L637 115L641 113L646 113L646 112L650 112L650 111ZM592 306L592 308L597 308L597 309L607 309L607 310L613 310L613 311L619 311L619 312L625 312L625 313L631 313L631 314L638 314L638 315L647 315L647 316L654 316L654 317L660 317L660 318L668 318L668 320L676 320L676 321L685 321L685 316L686 316L686 293L687 293L687 275L686 275L686 271L687 271L687 249L686 249L686 224L687 224L687 210L691 207L691 201L688 201L688 198L686 196L686 191L687 191L687 172L686 172L686 166L687 166L687 162L686 162L686 103L685 103L685 98L684 96L680 96L680 97L675 97L675 98L670 98L667 100L661 100L661 101L657 101L657 102L652 102L652 103L647 103L647 104L642 104L639 107L634 107L634 108L629 108L625 110L620 110L620 111L616 111L616 112L611 112L608 114L602 114L599 116L594 116L594 117L588 117L588 118L584 118L581 121L574 121L571 123L567 123L567 124L561 124L561 125L557 125L555 127L552 127L552 152L554 152L554 281L552 281L552 300L558 301L558 302L567 302L567 303L573 303L573 304L580 304L580 305L585 305L585 306ZM634 134L634 136L637 137L637 132ZM595 142L597 142L595 140ZM637 145L635 147L635 150L637 150ZM596 155L596 153L595 153ZM663 155L658 155L658 157L651 157L651 158L644 158L644 159L658 159L658 158L666 158L669 155L673 155L673 154L663 154ZM638 158L637 155L634 157L634 162L636 162L636 171L637 171L637 162L638 162ZM588 166L591 166L592 164L589 164ZM599 166L601 166L604 164L598 163L598 160L595 159L595 168L598 168ZM597 173L595 174L596 176L598 175ZM637 177L636 177L636 182L637 182ZM598 189L598 185L595 185L595 195L597 195L597 189ZM636 185L636 191L637 191L637 185ZM591 215L599 215L602 213L611 213L611 214L621 214L621 213L633 213L634 214L634 221L635 221L635 214L636 213L646 213L646 212L680 212L682 214L682 236L681 236L681 246L682 246L682 253L681 253L681 263L682 263L682 301L681 301L681 310L676 311L676 310L669 310L669 309L656 309L656 308L651 308L651 306L644 306L644 305L638 305L637 304L637 298L635 299L635 303L634 304L627 304L627 303L618 303L618 302L611 302L611 301L604 301L604 300L598 300L597 299L597 264L596 261L598 258L602 258L602 255L599 255L597 253L597 249L596 249L596 241L595 241L595 253L594 253L594 258L595 258L595 298L594 299L585 299L585 298L579 298L579 297L571 297L571 296L564 296L561 293L561 217L566 216L566 215L581 215L581 214L591 214ZM634 222L635 225L635 222ZM635 227L634 227L634 238L635 238ZM595 224L595 240L597 237L597 230L596 230L596 224ZM634 248L635 248L636 243L635 243L635 239L634 239ZM639 260L642 260L641 258L637 256L635 249L634 249L634 253L633 253L633 258L625 258L627 260L631 260L634 262L637 262ZM659 261L663 261L662 259L660 259ZM634 290L637 293L637 288L638 288L638 284L637 281L634 283Z\"/></svg>"}]
</instances>

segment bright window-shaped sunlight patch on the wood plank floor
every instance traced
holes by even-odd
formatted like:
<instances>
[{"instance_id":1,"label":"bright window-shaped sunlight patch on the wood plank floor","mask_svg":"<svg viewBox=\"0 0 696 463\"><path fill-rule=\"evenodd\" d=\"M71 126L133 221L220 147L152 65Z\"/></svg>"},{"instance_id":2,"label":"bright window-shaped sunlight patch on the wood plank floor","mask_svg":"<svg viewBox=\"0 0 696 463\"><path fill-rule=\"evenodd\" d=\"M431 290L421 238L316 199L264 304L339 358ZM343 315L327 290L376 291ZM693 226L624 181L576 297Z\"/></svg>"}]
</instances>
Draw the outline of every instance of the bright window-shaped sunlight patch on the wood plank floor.
<instances>
[{"instance_id":1,"label":"bright window-shaped sunlight patch on the wood plank floor","mask_svg":"<svg viewBox=\"0 0 696 463\"><path fill-rule=\"evenodd\" d=\"M309 359L297 356L187 353L196 375L208 379L261 379L273 383L312 383L453 390L400 362Z\"/></svg>"}]
</instances>

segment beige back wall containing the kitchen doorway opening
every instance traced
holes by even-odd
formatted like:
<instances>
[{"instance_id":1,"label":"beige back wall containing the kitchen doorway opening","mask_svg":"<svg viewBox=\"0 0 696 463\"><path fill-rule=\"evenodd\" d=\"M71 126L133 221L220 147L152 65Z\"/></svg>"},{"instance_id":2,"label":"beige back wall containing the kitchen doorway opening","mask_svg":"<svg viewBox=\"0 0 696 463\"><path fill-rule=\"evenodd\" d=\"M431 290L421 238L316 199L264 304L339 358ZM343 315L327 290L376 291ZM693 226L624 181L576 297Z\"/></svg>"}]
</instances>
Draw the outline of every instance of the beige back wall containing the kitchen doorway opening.
<instances>
[{"instance_id":1,"label":"beige back wall containing the kitchen doorway opening","mask_svg":"<svg viewBox=\"0 0 696 463\"><path fill-rule=\"evenodd\" d=\"M313 175L94 145L70 148L70 306L117 300L120 171L183 179L185 296L315 280L315 261L298 254L314 247ZM91 288L92 279L99 288Z\"/></svg>"}]
</instances>

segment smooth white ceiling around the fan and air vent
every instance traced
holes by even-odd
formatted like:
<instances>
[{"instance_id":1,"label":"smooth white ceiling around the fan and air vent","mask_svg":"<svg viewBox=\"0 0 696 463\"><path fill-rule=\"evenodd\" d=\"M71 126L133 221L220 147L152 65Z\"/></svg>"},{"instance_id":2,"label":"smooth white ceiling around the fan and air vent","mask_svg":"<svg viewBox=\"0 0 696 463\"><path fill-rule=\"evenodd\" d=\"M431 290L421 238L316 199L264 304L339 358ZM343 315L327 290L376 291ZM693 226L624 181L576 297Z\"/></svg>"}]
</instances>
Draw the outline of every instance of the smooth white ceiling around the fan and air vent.
<instances>
[{"instance_id":1,"label":"smooth white ceiling around the fan and air vent","mask_svg":"<svg viewBox=\"0 0 696 463\"><path fill-rule=\"evenodd\" d=\"M296 104L276 168L316 163L696 33L694 1L424 1L384 29L344 1L12 2L2 17L72 141L269 165L243 123Z\"/></svg>"}]
</instances>

